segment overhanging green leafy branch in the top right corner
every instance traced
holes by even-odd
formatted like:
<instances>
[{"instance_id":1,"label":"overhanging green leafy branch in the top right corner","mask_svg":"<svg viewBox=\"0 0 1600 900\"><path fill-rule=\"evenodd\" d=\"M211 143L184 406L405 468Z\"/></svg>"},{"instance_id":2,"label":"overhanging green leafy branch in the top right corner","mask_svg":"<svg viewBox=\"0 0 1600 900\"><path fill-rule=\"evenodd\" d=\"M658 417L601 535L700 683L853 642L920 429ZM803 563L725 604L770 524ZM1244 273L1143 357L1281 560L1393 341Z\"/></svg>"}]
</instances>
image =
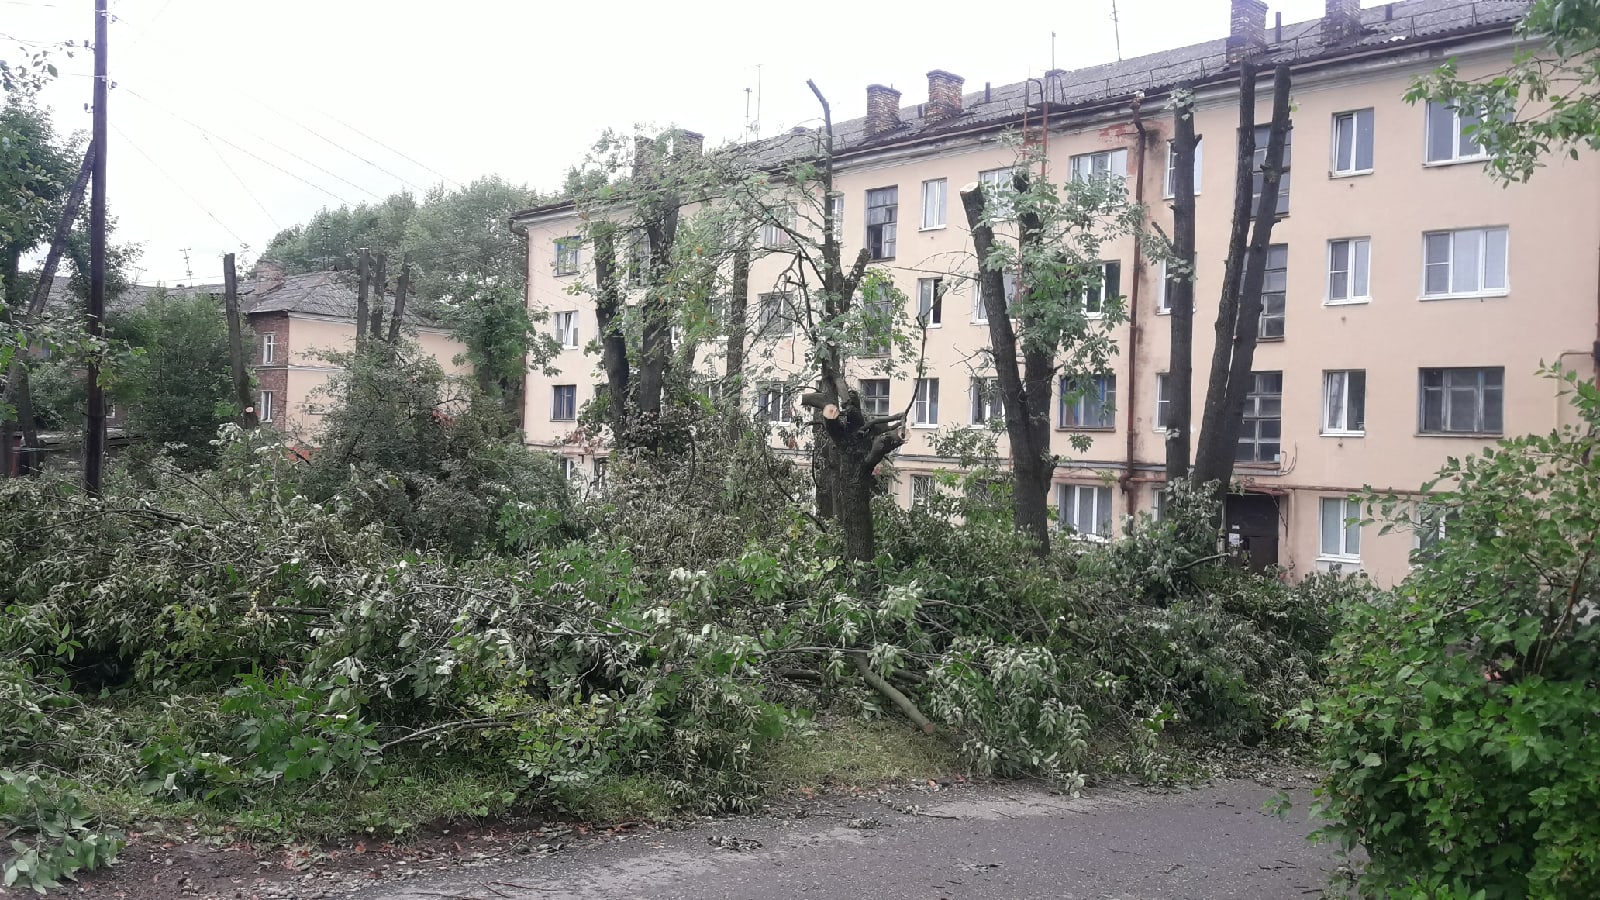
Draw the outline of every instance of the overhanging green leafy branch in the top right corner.
<instances>
[{"instance_id":1,"label":"overhanging green leafy branch in the top right corner","mask_svg":"<svg viewBox=\"0 0 1600 900\"><path fill-rule=\"evenodd\" d=\"M1534 0L1517 34L1530 45L1504 70L1462 78L1450 59L1406 91L1411 102L1477 110L1469 136L1507 183L1533 178L1552 152L1600 149L1600 2Z\"/></svg>"}]
</instances>

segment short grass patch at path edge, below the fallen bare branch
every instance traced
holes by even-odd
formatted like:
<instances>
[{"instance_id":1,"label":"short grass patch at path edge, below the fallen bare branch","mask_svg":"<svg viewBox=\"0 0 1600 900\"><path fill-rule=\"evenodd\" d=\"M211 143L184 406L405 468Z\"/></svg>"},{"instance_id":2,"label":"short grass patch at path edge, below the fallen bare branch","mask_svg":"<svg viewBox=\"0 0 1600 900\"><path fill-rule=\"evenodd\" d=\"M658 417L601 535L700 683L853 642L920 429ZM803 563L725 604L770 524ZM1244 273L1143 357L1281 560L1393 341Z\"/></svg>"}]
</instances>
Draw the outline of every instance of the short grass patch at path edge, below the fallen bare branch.
<instances>
[{"instance_id":1,"label":"short grass patch at path edge, below the fallen bare branch","mask_svg":"<svg viewBox=\"0 0 1600 900\"><path fill-rule=\"evenodd\" d=\"M795 729L760 761L776 790L872 788L962 770L954 748L906 722L824 716Z\"/></svg>"}]
</instances>

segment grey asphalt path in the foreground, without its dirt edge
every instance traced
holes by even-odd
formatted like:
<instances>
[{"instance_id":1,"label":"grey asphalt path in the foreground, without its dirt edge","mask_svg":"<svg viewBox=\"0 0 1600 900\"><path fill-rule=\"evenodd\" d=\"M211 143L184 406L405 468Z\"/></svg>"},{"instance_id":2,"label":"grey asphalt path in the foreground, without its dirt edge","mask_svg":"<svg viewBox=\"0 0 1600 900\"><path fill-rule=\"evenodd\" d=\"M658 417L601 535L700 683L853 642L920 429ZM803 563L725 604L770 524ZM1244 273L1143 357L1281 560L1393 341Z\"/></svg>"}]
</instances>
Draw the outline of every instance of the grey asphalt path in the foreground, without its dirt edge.
<instances>
[{"instance_id":1,"label":"grey asphalt path in the foreground, without its dirt edge","mask_svg":"<svg viewBox=\"0 0 1600 900\"><path fill-rule=\"evenodd\" d=\"M370 887L362 900L1075 900L1318 897L1333 865L1304 838L1309 798L1275 788L1178 793L1014 786L819 801L677 833Z\"/></svg>"}]
</instances>

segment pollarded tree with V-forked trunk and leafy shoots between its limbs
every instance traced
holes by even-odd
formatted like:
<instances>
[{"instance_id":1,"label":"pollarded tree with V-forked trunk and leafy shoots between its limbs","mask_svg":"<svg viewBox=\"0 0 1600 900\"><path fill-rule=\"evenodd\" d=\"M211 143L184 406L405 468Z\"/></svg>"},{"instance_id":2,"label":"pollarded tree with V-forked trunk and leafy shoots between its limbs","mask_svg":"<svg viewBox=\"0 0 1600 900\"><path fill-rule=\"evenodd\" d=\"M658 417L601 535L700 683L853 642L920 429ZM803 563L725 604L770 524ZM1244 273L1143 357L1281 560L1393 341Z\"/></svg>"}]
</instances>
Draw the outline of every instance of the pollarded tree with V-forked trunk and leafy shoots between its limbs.
<instances>
[{"instance_id":1,"label":"pollarded tree with V-forked trunk and leafy shoots between its limbs","mask_svg":"<svg viewBox=\"0 0 1600 900\"><path fill-rule=\"evenodd\" d=\"M1114 328L1126 320L1118 285L1104 277L1101 247L1123 235L1144 240L1144 208L1128 202L1123 179L1101 175L1075 179L1066 191L1030 176L1026 160L1010 186L962 191L978 255L978 290L989 319L1005 429L1011 444L1011 504L1016 528L1050 549L1050 484L1054 383L1082 396L1088 378L1106 375L1117 352ZM995 234L1016 221L1016 242ZM1008 303L1005 272L1018 274ZM1093 309L1091 309L1093 306ZM1075 436L1078 450L1088 439Z\"/></svg>"}]
</instances>

